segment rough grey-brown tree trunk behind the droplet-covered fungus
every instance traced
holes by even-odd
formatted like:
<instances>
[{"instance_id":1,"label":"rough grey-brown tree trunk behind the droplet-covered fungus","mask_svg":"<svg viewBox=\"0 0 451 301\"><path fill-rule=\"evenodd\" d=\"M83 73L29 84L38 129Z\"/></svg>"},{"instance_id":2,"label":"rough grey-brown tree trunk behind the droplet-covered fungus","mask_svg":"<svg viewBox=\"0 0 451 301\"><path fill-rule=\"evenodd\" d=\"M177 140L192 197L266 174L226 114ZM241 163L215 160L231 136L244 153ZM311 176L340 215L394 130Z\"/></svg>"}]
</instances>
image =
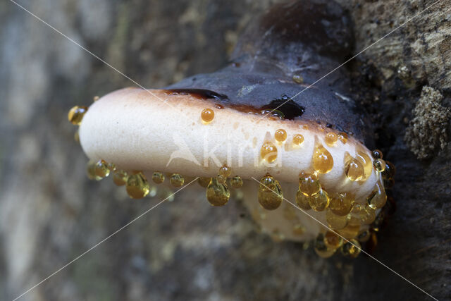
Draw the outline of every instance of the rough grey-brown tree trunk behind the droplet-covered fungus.
<instances>
[{"instance_id":1,"label":"rough grey-brown tree trunk behind the droplet-covered fungus","mask_svg":"<svg viewBox=\"0 0 451 301\"><path fill-rule=\"evenodd\" d=\"M20 4L141 85L163 87L226 64L249 18L273 2ZM354 21L355 54L433 4L340 2ZM397 211L373 256L440 300L451 296L450 7L440 1L346 66L376 144L397 167ZM87 180L66 119L71 106L133 83L10 1L0 17L0 298L11 300L159 198L130 201L111 180ZM161 204L23 300L406 296L426 298L369 257L320 259L311 247L273 242L240 204L211 207L199 189Z\"/></svg>"}]
</instances>

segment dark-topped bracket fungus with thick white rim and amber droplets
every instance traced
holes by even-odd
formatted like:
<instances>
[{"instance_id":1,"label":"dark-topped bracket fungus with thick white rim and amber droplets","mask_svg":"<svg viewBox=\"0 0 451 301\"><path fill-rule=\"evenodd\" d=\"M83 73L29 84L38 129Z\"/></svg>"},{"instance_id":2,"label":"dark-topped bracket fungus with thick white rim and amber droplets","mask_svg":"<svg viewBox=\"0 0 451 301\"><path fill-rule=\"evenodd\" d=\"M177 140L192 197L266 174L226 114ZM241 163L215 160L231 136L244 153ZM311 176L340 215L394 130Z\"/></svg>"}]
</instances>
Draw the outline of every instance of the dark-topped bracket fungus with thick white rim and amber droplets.
<instances>
[{"instance_id":1,"label":"dark-topped bracket fungus with thick white rim and amber droplets","mask_svg":"<svg viewBox=\"0 0 451 301\"><path fill-rule=\"evenodd\" d=\"M72 109L89 177L112 173L133 198L145 197L150 181L180 187L184 176L199 177L214 206L242 190L273 238L313 240L321 257L338 249L356 257L378 229L394 167L370 151L371 123L346 96L345 67L321 78L351 51L350 21L333 1L273 6L226 68Z\"/></svg>"}]
</instances>

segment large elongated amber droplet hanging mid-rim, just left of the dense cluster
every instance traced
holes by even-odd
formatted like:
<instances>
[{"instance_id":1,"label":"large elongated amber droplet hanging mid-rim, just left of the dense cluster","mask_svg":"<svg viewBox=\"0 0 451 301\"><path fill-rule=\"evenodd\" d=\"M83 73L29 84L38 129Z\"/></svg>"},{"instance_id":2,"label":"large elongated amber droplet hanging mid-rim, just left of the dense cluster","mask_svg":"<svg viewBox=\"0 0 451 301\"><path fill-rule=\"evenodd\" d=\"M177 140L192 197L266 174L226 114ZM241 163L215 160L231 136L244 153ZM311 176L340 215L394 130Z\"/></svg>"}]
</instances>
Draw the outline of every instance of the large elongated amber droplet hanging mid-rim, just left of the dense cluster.
<instances>
[{"instance_id":1,"label":"large elongated amber droplet hanging mid-rim, just left of the dense cluster","mask_svg":"<svg viewBox=\"0 0 451 301\"><path fill-rule=\"evenodd\" d=\"M283 201L283 192L278 180L268 174L261 178L259 203L267 210L277 209Z\"/></svg>"}]
</instances>

